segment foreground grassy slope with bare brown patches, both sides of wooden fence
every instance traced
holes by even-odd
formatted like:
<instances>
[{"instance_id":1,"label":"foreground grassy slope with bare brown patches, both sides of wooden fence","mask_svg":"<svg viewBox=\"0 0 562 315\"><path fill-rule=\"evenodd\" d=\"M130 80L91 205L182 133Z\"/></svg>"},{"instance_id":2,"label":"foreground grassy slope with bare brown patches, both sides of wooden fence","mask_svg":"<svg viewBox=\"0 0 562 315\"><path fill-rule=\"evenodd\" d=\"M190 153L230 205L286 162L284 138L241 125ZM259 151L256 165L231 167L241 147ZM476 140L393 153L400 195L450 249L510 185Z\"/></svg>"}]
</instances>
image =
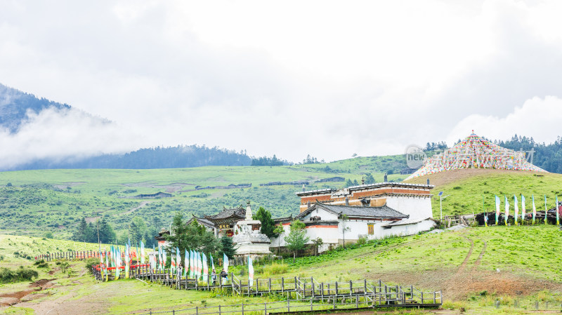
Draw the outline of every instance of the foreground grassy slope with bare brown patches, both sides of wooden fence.
<instances>
[{"instance_id":1,"label":"foreground grassy slope with bare brown patches, both sides of wooden fence","mask_svg":"<svg viewBox=\"0 0 562 315\"><path fill-rule=\"evenodd\" d=\"M501 301L504 313L528 314L524 309L514 311L515 301L528 305L528 309L537 301L543 307L547 301L551 306L562 302L562 271L557 267L561 233L554 226L502 226L384 239L318 257L299 257L295 263L288 260L286 271L273 276L314 276L320 281L382 279L391 285L411 284L424 290L443 290L446 307L464 307L469 314L498 311L494 307L496 300ZM96 247L96 244L67 241L54 241L51 245L50 241L25 236L0 236L0 241L0 256L13 267L31 264L25 258L11 255L22 248L35 255L43 252L43 248ZM244 267L232 269L239 273ZM256 277L272 276L269 270L256 265ZM0 308L0 314L43 314L54 306L61 310L80 308L95 314L136 314L148 309L165 311L275 299L173 290L135 280L96 283L84 272L83 262L72 262L70 272L64 273L51 262L48 269L40 272L40 279L55 279L55 286L41 291L46 294L37 300ZM24 290L27 286L28 283L0 285L0 294ZM458 311L443 314L458 314Z\"/></svg>"}]
</instances>

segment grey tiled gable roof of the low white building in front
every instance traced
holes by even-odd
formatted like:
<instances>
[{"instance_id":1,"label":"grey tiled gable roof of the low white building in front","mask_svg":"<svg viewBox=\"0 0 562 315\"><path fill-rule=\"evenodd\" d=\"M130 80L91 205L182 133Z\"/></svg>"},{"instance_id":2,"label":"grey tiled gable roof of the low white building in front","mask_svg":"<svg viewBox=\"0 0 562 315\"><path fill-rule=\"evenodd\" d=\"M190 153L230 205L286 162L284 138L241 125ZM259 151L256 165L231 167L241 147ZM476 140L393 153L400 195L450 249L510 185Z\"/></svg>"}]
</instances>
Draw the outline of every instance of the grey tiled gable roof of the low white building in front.
<instances>
[{"instance_id":1,"label":"grey tiled gable roof of the low white building in front","mask_svg":"<svg viewBox=\"0 0 562 315\"><path fill-rule=\"evenodd\" d=\"M295 218L299 219L306 216L316 207L323 208L331 213L338 215L347 215L348 217L377 217L377 218L399 218L405 219L410 217L410 215L405 215L400 213L393 208L386 205L380 207L365 207L365 206L338 206L338 205L327 205L324 203L315 203L314 206L308 208L307 210L299 213Z\"/></svg>"}]
</instances>

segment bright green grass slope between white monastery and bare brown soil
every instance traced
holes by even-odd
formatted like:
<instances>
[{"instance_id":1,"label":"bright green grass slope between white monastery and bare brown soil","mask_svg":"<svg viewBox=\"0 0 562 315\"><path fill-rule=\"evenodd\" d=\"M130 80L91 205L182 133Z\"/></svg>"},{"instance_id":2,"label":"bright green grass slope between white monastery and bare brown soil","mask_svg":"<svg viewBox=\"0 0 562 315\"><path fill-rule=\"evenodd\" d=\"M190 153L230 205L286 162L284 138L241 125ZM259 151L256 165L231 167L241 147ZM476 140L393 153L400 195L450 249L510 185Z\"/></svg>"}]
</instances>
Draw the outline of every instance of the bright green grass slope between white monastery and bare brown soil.
<instances>
[{"instance_id":1,"label":"bright green grass slope between white monastery and bare brown soil","mask_svg":"<svg viewBox=\"0 0 562 315\"><path fill-rule=\"evenodd\" d=\"M478 227L459 232L421 234L374 241L353 250L286 260L287 275L314 276L322 281L372 279L374 275L456 270L474 243L467 266L474 271L508 272L561 283L559 250L562 232L554 225ZM486 242L481 263L474 267ZM399 263L396 263L399 262ZM438 288L433 288L438 289Z\"/></svg>"}]
</instances>

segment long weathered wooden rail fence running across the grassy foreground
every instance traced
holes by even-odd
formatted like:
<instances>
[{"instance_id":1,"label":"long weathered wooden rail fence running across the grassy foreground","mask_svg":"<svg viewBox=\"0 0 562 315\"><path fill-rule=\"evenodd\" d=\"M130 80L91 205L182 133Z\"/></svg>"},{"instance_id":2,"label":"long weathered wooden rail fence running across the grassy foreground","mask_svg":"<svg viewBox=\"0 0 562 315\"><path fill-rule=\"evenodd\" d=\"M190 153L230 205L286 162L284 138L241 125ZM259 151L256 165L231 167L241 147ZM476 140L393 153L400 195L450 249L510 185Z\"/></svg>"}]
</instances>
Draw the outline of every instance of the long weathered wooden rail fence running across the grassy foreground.
<instances>
[{"instance_id":1,"label":"long weathered wooden rail fence running across the grassy foreground","mask_svg":"<svg viewBox=\"0 0 562 315\"><path fill-rule=\"evenodd\" d=\"M103 269L94 266L93 274L96 279L104 281L110 278L110 274L104 274ZM105 276L105 278L104 278ZM112 276L112 275L111 275ZM310 300L320 302L311 302L313 306L325 307L325 300L332 301L332 304L344 303L347 300L358 299L362 303L370 303L370 307L439 307L443 304L443 295L441 291L423 292L417 290L413 286L388 286L382 281L370 281L367 279L358 281L333 281L319 282L313 277L280 277L266 279L240 279L230 273L226 279L218 277L216 281L210 277L203 280L195 279L190 276L181 276L179 274L171 274L169 269L163 271L152 270L148 265L139 265L131 267L129 270L129 278L140 279L142 281L150 281L160 283L163 286L169 286L177 290L216 290L227 289L237 295L246 296L263 296L275 294L287 298L288 301ZM351 303L351 302L350 302ZM330 304L330 305L332 305ZM268 304L263 305L263 311L268 310ZM232 306L230 306L232 307ZM212 307L209 307L211 309ZM213 313L202 311L202 308L186 309L185 314L222 314L228 313L226 309L220 309ZM290 302L287 304L290 309ZM269 308L271 311L273 306ZM259 309L262 310L262 309ZM189 312L191 311L191 312ZM243 312L244 310L231 311ZM246 309L246 311L248 311ZM155 314L155 313L154 313Z\"/></svg>"}]
</instances>

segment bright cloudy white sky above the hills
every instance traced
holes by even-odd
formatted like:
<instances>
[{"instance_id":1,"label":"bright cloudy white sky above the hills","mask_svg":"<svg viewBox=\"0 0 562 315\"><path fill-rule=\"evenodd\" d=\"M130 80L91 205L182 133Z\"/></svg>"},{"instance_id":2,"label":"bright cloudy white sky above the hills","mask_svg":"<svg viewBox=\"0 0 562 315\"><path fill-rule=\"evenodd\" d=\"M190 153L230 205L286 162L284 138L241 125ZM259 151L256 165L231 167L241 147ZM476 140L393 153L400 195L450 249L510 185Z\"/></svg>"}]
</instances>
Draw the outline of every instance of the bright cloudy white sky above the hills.
<instances>
[{"instance_id":1,"label":"bright cloudy white sky above the hills","mask_svg":"<svg viewBox=\"0 0 562 315\"><path fill-rule=\"evenodd\" d=\"M207 145L334 161L562 135L562 1L0 2L0 159ZM87 114L86 114L87 113ZM109 122L108 122L109 121Z\"/></svg>"}]
</instances>

